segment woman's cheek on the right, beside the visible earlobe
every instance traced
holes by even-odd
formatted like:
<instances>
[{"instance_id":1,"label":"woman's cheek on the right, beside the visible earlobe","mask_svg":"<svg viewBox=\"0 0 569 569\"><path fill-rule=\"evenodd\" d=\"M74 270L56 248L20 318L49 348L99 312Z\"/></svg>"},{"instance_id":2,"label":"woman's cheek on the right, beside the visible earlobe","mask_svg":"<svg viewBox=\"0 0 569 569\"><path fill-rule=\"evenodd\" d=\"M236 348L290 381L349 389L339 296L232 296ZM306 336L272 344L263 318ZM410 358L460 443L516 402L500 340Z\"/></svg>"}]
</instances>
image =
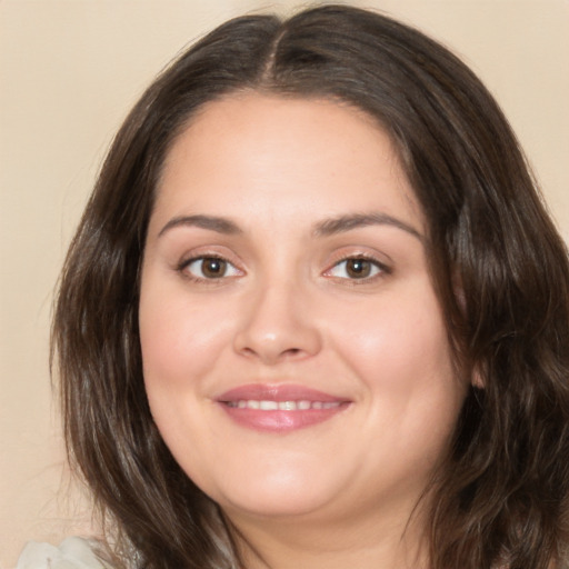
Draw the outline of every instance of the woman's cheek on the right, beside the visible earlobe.
<instances>
[{"instance_id":1,"label":"woman's cheek on the right, beside the visible earlobe","mask_svg":"<svg viewBox=\"0 0 569 569\"><path fill-rule=\"evenodd\" d=\"M338 321L335 346L365 386L368 420L395 437L421 437L425 425L452 428L465 393L436 298L408 295ZM378 302L379 305L379 302ZM378 315L370 318L369 315ZM331 332L332 333L332 332Z\"/></svg>"}]
</instances>

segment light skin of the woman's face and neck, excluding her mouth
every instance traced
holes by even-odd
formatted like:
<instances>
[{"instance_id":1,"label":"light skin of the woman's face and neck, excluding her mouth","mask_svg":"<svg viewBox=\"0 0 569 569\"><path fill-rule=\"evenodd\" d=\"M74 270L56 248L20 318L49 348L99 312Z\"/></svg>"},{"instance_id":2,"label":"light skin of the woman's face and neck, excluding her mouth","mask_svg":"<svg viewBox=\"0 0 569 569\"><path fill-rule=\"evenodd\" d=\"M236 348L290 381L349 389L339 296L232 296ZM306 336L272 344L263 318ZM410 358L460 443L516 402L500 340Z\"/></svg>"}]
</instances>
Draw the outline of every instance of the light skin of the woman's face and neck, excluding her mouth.
<instances>
[{"instance_id":1,"label":"light skin of the woman's face and neck, excluding her mouth","mask_svg":"<svg viewBox=\"0 0 569 569\"><path fill-rule=\"evenodd\" d=\"M234 231L180 221L191 216ZM368 222L331 231L346 216ZM467 387L426 239L389 137L353 108L233 94L206 106L170 150L141 276L146 388L248 568L422 565L416 506ZM203 272L212 256L227 260L214 278ZM369 277L347 258L371 259ZM250 429L218 399L251 383L349 403L307 428Z\"/></svg>"}]
</instances>

